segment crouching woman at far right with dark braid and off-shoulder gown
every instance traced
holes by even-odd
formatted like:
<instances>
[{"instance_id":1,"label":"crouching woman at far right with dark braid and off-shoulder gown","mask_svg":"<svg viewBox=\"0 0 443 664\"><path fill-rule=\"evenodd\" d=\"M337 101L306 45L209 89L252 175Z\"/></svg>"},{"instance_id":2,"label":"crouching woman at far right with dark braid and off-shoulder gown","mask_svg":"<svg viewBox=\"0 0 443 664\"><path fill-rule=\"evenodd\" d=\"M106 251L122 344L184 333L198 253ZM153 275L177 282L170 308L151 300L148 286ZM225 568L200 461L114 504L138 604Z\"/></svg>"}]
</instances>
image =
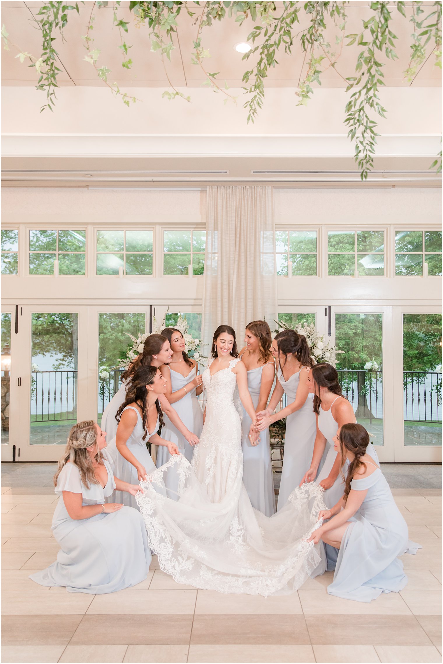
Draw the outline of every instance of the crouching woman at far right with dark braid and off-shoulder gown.
<instances>
[{"instance_id":1,"label":"crouching woman at far right with dark braid and off-shoulder gown","mask_svg":"<svg viewBox=\"0 0 443 664\"><path fill-rule=\"evenodd\" d=\"M308 541L339 549L328 593L346 600L371 602L382 592L399 592L408 578L397 556L415 554L420 544L408 541L408 527L391 489L369 454L369 434L361 424L344 424L334 437L336 452L348 459L344 495L320 512L326 523Z\"/></svg>"}]
</instances>

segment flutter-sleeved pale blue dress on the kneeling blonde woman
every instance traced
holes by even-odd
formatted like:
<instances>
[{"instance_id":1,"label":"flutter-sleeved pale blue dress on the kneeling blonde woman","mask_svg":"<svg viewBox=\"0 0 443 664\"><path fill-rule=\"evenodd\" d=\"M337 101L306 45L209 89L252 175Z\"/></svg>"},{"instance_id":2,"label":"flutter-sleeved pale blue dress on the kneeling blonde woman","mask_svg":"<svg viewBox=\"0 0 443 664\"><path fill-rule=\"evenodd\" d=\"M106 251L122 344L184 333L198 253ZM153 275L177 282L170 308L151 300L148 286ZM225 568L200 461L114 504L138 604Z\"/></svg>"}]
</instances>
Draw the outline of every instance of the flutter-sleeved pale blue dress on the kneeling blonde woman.
<instances>
[{"instance_id":1,"label":"flutter-sleeved pale blue dress on the kneeling blonde woman","mask_svg":"<svg viewBox=\"0 0 443 664\"><path fill-rule=\"evenodd\" d=\"M102 450L107 483L82 484L80 470L68 462L58 475L55 493L60 496L52 518L52 533L61 550L46 570L31 574L40 586L65 586L69 592L101 595L141 583L151 564L146 528L139 511L122 507L89 519L71 519L63 491L82 493L82 505L103 504L115 483L107 454ZM137 481L138 484L138 481ZM129 495L129 494L128 494Z\"/></svg>"}]
</instances>

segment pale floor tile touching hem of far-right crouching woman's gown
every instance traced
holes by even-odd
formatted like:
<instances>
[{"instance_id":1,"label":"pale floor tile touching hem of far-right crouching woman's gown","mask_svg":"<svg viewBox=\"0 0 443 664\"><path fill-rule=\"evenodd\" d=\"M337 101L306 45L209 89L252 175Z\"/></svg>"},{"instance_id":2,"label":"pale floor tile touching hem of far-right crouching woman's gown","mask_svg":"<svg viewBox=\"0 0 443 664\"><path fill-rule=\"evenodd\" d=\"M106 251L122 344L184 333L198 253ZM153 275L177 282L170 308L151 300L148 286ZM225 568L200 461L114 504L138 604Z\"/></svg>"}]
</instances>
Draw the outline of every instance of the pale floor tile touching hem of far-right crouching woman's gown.
<instances>
[{"instance_id":1,"label":"pale floor tile touching hem of far-right crouching woman's gown","mask_svg":"<svg viewBox=\"0 0 443 664\"><path fill-rule=\"evenodd\" d=\"M340 597L328 595L326 591L321 598L309 590L299 590L298 596L304 614L324 614L325 612L342 615L365 614L366 616L411 614L407 604L397 592L381 594L376 600L369 603L343 600Z\"/></svg>"}]
</instances>

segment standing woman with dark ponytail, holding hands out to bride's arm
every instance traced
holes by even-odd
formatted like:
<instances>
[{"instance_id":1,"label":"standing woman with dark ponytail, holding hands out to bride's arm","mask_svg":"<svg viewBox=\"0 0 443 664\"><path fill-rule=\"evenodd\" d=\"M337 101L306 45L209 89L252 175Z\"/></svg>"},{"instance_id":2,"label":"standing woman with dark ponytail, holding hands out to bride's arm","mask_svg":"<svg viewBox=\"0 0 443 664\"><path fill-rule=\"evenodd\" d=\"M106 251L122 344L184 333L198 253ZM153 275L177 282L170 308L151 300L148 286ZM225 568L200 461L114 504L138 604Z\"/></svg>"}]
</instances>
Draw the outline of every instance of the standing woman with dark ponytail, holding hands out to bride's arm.
<instances>
[{"instance_id":1,"label":"standing woman with dark ponytail, holding hands out to bride's arm","mask_svg":"<svg viewBox=\"0 0 443 664\"><path fill-rule=\"evenodd\" d=\"M261 431L269 424L286 417L285 454L279 490L277 511L300 484L306 464L310 463L316 437L316 420L312 410L312 394L308 389L308 376L314 365L304 335L294 330L283 330L273 340L271 351L277 361L277 382L269 407L257 413ZM273 414L286 392L288 405Z\"/></svg>"}]
</instances>

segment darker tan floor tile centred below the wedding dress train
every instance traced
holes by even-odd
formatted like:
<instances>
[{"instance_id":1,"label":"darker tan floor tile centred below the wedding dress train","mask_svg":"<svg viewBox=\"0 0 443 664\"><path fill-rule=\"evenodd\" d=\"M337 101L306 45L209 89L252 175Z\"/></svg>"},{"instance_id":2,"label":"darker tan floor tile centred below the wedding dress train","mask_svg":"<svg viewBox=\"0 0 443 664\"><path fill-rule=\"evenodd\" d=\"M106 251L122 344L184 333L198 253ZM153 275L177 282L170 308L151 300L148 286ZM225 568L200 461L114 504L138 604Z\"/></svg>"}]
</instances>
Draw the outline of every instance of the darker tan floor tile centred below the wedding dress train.
<instances>
[{"instance_id":1,"label":"darker tan floor tile centred below the wedding dress train","mask_svg":"<svg viewBox=\"0 0 443 664\"><path fill-rule=\"evenodd\" d=\"M196 614L192 645L310 645L303 616Z\"/></svg>"}]
</instances>

